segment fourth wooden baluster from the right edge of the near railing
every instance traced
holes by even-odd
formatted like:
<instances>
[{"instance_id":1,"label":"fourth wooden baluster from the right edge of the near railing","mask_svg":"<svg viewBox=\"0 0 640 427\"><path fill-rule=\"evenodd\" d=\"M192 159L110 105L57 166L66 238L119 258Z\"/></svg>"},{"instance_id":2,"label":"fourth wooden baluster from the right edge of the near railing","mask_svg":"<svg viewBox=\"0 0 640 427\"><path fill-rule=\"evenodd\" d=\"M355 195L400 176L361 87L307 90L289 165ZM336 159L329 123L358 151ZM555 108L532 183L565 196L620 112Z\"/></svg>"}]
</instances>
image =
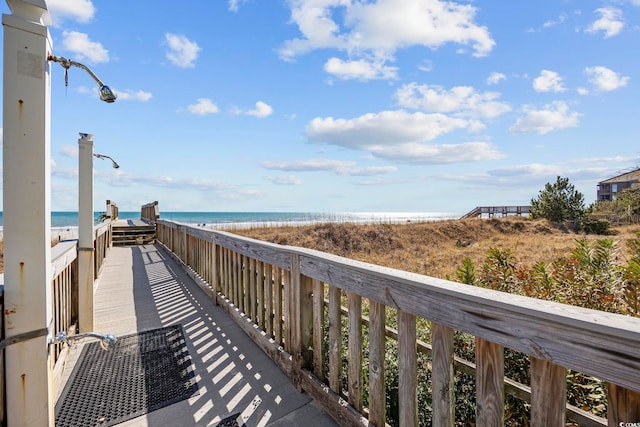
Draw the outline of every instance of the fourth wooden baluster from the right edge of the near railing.
<instances>
[{"instance_id":1,"label":"fourth wooden baluster from the right edge of the near railing","mask_svg":"<svg viewBox=\"0 0 640 427\"><path fill-rule=\"evenodd\" d=\"M453 427L453 329L431 322L433 425Z\"/></svg>"}]
</instances>

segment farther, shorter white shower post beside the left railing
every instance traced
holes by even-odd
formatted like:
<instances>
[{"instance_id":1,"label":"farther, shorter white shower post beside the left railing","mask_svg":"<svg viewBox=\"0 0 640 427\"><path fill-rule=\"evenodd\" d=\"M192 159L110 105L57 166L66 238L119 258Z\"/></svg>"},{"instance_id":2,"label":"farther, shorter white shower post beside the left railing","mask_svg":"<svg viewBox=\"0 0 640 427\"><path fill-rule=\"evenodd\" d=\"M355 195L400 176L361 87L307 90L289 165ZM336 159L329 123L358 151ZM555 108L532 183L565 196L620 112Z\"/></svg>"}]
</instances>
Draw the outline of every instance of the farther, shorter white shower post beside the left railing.
<instances>
[{"instance_id":1,"label":"farther, shorter white shower post beside the left railing","mask_svg":"<svg viewBox=\"0 0 640 427\"><path fill-rule=\"evenodd\" d=\"M80 332L93 331L93 135L78 139L78 323Z\"/></svg>"}]
</instances>

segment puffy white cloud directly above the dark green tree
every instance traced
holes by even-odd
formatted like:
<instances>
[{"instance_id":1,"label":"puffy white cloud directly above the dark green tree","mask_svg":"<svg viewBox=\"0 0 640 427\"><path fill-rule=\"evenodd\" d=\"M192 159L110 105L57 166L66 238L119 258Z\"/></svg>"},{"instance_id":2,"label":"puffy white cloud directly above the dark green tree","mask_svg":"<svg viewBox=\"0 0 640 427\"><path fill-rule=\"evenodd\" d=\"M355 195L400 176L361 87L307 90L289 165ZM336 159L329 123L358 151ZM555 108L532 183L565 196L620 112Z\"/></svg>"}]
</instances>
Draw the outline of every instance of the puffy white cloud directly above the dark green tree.
<instances>
[{"instance_id":1,"label":"puffy white cloud directly above the dark green tree","mask_svg":"<svg viewBox=\"0 0 640 427\"><path fill-rule=\"evenodd\" d=\"M544 135L555 130L576 127L580 123L580 114L569 111L569 106L564 101L555 101L542 109L525 106L524 113L525 115L509 128L510 132Z\"/></svg>"}]
</instances>

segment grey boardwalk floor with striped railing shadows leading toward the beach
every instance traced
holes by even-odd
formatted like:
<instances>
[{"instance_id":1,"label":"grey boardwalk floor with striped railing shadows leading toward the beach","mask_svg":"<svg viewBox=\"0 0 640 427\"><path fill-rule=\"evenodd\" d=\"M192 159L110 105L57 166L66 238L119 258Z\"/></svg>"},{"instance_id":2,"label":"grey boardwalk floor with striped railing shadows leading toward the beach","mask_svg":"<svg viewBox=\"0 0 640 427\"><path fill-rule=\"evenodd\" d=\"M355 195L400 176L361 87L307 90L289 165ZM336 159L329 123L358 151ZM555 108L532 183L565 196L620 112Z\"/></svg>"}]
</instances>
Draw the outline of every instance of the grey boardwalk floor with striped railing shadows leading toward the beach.
<instances>
[{"instance_id":1,"label":"grey boardwalk floor with striped railing shadows leading toward the beach","mask_svg":"<svg viewBox=\"0 0 640 427\"><path fill-rule=\"evenodd\" d=\"M182 324L199 394L120 426L337 426L158 245L113 247L95 293L95 330L124 336ZM83 341L84 342L84 341ZM77 360L76 344L65 372Z\"/></svg>"}]
</instances>

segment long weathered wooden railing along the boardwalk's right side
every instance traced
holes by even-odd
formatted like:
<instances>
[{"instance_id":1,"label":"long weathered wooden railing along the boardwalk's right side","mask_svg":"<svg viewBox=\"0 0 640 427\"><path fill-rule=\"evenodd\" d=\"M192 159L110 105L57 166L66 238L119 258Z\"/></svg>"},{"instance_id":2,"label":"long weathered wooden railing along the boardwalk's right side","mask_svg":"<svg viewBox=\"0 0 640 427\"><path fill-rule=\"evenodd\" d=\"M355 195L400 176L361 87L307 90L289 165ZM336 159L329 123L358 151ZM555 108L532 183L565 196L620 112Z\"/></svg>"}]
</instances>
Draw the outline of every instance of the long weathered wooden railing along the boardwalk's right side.
<instances>
[{"instance_id":1,"label":"long weathered wooden railing along the boardwalk's right side","mask_svg":"<svg viewBox=\"0 0 640 427\"><path fill-rule=\"evenodd\" d=\"M418 425L419 351L431 354L436 426L454 425L455 369L475 374L476 426L503 425L505 389L530 402L531 426L564 426L567 419L606 425L567 407L567 369L608 383L608 425L640 421L638 318L222 231L163 220L157 227L158 241L188 267L213 301L341 425L385 425L387 337L397 341L400 426ZM387 327L388 316L396 329ZM417 319L430 321L430 345L417 340ZM345 321L346 362L341 348ZM475 365L454 356L454 331L475 336ZM530 386L504 378L505 348L530 356ZM364 354L368 363L363 365Z\"/></svg>"}]
</instances>

